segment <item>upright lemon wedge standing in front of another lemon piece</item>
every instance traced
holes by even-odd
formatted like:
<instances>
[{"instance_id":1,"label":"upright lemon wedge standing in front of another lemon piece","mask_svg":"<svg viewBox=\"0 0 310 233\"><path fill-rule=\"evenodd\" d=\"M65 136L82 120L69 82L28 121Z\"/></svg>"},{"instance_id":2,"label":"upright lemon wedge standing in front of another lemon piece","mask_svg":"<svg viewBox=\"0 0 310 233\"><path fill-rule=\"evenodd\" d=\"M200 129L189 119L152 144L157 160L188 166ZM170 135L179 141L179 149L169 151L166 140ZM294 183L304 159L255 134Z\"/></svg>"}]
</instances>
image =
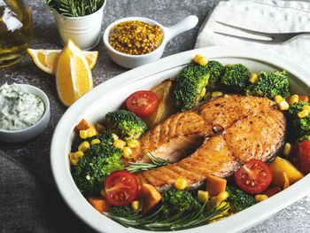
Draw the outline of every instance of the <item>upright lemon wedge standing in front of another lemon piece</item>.
<instances>
[{"instance_id":1,"label":"upright lemon wedge standing in front of another lemon piece","mask_svg":"<svg viewBox=\"0 0 310 233\"><path fill-rule=\"evenodd\" d=\"M66 105L93 88L89 64L81 49L72 40L68 40L61 51L56 72L58 97Z\"/></svg>"}]
</instances>

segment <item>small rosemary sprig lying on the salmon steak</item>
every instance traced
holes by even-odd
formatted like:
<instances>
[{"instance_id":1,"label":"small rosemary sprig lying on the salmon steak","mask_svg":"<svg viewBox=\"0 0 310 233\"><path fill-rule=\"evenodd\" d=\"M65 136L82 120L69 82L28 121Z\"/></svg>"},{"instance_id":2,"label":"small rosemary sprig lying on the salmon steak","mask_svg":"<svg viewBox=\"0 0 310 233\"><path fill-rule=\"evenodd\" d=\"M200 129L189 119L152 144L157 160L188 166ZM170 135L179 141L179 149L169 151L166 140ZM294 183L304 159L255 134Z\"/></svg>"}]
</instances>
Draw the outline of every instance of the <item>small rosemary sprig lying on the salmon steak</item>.
<instances>
[{"instance_id":1,"label":"small rosemary sprig lying on the salmon steak","mask_svg":"<svg viewBox=\"0 0 310 233\"><path fill-rule=\"evenodd\" d=\"M147 171L154 169L156 167L162 167L162 166L167 166L171 164L169 160L166 159L161 159L159 157L154 156L151 151L149 151L150 155L145 153L143 151L144 155L151 160L151 163L134 163L134 162L128 162L129 166L126 167L128 172L131 173L136 173L139 171Z\"/></svg>"}]
</instances>

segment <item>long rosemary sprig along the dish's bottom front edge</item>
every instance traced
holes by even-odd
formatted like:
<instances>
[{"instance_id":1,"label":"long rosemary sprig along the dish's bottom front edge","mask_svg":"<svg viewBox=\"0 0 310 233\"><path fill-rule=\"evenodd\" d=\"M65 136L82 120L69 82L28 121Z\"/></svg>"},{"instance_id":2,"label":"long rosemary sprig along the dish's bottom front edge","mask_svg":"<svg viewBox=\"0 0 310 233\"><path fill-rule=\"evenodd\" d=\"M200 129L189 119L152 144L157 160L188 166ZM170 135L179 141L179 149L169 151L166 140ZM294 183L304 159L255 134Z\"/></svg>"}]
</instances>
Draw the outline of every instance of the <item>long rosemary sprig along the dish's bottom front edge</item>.
<instances>
[{"instance_id":1,"label":"long rosemary sprig along the dish's bottom front edge","mask_svg":"<svg viewBox=\"0 0 310 233\"><path fill-rule=\"evenodd\" d=\"M229 215L229 213L227 213L227 210L229 209L228 204L215 205L207 209L205 208L205 204L197 210L179 214L169 212L164 213L162 211L163 206L160 206L157 211L147 216L142 216L138 213L127 217L118 217L108 213L104 214L110 217L113 221L119 222L124 227L153 231L196 228Z\"/></svg>"}]
</instances>

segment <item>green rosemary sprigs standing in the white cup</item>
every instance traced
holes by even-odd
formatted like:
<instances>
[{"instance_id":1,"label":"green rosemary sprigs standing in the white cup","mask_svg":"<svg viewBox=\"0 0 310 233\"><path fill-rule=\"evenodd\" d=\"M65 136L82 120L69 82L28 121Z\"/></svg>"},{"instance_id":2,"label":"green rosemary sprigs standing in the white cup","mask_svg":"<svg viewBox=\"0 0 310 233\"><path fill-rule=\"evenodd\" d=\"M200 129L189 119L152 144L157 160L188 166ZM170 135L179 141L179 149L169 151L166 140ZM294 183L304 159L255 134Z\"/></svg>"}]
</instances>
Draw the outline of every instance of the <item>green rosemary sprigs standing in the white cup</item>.
<instances>
[{"instance_id":1,"label":"green rosemary sprigs standing in the white cup","mask_svg":"<svg viewBox=\"0 0 310 233\"><path fill-rule=\"evenodd\" d=\"M79 17L97 12L105 4L105 0L44 0L59 14Z\"/></svg>"}]
</instances>

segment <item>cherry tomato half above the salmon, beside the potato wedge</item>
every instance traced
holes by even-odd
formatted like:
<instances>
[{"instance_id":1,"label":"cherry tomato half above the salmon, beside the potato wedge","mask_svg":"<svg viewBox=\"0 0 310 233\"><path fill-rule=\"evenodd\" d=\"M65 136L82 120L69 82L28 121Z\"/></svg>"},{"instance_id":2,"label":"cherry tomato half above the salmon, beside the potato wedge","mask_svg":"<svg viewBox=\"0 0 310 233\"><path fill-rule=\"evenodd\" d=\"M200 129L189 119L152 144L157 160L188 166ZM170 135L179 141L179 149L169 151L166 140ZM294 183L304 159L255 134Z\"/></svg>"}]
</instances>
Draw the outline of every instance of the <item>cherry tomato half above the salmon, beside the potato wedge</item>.
<instances>
[{"instance_id":1,"label":"cherry tomato half above the salmon, beside the potato wedge","mask_svg":"<svg viewBox=\"0 0 310 233\"><path fill-rule=\"evenodd\" d=\"M148 116L154 112L158 104L158 98L150 90L139 90L126 99L126 105L130 112L139 117Z\"/></svg>"}]
</instances>

